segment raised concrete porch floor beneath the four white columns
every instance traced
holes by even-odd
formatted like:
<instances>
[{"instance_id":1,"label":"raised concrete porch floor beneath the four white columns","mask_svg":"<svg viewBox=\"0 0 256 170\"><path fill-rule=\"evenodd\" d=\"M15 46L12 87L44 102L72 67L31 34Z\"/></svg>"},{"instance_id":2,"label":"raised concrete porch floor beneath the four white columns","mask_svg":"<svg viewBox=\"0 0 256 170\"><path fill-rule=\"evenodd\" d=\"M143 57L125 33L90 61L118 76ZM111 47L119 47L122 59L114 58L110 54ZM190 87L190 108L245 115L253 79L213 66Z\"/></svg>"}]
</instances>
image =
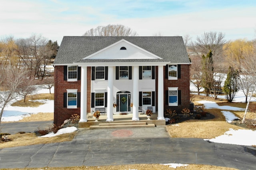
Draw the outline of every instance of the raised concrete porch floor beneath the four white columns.
<instances>
[{"instance_id":1,"label":"raised concrete porch floor beneath the four white columns","mask_svg":"<svg viewBox=\"0 0 256 170\"><path fill-rule=\"evenodd\" d=\"M140 115L139 114L139 121L133 121L132 120L132 113L127 115L113 115L114 121L106 121L107 115L101 115L99 117L98 122L95 121L95 119L92 117L91 114L88 115L87 122L79 122L79 128L89 128L90 126L99 125L100 123L135 123L135 122L145 122L146 125L154 124L155 126L163 126L165 125L165 120L157 120L157 113L153 113L150 117L150 120L147 120L147 116L145 114ZM126 125L124 125L126 126Z\"/></svg>"}]
</instances>

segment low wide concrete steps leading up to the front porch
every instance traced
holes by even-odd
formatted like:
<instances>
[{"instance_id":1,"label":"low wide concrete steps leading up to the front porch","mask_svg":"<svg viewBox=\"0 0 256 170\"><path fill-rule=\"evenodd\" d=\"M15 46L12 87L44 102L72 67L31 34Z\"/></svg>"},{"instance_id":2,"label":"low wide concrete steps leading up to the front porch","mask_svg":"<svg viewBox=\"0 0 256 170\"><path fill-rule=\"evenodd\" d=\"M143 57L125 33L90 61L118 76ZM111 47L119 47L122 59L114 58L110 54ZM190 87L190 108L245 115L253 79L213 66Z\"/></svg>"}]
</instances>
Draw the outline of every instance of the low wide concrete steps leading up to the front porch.
<instances>
[{"instance_id":1,"label":"low wide concrete steps leading up to the front porch","mask_svg":"<svg viewBox=\"0 0 256 170\"><path fill-rule=\"evenodd\" d=\"M113 125L112 126L108 125L108 126L100 126L99 125L91 125L90 129L103 129L103 128L142 128L142 127L155 127L155 124L144 124L144 125Z\"/></svg>"}]
</instances>

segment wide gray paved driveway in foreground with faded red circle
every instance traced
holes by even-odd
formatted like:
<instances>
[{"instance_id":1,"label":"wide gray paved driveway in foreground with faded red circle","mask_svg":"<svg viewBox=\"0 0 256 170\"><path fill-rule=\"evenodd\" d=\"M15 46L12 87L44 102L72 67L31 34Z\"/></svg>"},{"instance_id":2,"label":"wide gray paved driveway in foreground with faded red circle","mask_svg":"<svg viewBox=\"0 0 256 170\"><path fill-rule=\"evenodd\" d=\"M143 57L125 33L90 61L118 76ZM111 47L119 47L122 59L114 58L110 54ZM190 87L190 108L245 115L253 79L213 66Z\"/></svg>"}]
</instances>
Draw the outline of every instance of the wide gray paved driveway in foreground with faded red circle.
<instances>
[{"instance_id":1,"label":"wide gray paved driveway in foreground with faded red circle","mask_svg":"<svg viewBox=\"0 0 256 170\"><path fill-rule=\"evenodd\" d=\"M255 169L256 156L247 149L196 138L170 138L165 127L81 128L69 142L0 149L0 168L175 162Z\"/></svg>"}]
</instances>

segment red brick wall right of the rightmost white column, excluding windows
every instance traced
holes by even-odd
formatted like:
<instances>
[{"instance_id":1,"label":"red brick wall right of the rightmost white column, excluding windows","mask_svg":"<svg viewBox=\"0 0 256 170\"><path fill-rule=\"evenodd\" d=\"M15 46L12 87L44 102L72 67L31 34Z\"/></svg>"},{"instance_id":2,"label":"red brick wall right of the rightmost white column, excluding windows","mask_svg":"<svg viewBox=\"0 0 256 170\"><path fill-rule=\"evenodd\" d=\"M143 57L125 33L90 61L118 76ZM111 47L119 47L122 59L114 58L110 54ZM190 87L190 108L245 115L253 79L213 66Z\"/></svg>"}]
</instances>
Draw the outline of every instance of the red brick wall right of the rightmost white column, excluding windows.
<instances>
[{"instance_id":1,"label":"red brick wall right of the rightmost white column, excluding windows","mask_svg":"<svg viewBox=\"0 0 256 170\"><path fill-rule=\"evenodd\" d=\"M181 78L178 80L168 80L165 78L165 66L164 66L164 111L166 109L176 110L178 113L184 108L190 106L190 79L189 79L189 65L181 65ZM178 106L168 106L166 103L165 92L168 90L168 87L178 87L178 90L181 91L181 105Z\"/></svg>"}]
</instances>

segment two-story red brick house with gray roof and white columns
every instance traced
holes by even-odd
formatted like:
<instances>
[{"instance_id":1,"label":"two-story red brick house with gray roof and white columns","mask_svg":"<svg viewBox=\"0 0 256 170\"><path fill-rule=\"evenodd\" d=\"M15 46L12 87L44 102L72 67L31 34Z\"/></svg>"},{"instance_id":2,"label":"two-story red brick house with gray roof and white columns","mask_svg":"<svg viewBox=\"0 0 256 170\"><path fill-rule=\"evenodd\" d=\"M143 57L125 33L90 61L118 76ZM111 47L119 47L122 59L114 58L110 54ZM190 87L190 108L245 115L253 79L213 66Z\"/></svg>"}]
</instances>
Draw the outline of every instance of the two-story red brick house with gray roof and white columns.
<instances>
[{"instance_id":1,"label":"two-story red brick house with gray roof and white columns","mask_svg":"<svg viewBox=\"0 0 256 170\"><path fill-rule=\"evenodd\" d=\"M190 106L189 65L179 36L65 36L54 61L54 123L72 114L86 122L99 107L106 108L106 121L119 113L138 121L139 107L148 106L163 120L166 109Z\"/></svg>"}]
</instances>

